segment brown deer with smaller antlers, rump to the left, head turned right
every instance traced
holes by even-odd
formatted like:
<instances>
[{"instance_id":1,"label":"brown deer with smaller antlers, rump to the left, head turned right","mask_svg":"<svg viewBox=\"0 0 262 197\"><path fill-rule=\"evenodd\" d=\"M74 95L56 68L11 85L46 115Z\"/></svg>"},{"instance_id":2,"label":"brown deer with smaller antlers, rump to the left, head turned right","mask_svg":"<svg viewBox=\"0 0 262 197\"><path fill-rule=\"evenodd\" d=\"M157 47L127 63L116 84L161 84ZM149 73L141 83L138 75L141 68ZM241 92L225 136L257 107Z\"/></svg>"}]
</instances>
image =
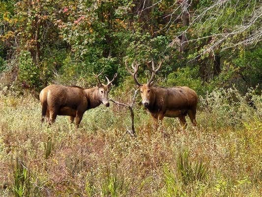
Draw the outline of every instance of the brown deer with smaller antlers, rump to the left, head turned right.
<instances>
[{"instance_id":1,"label":"brown deer with smaller antlers, rump to the left, head turned right","mask_svg":"<svg viewBox=\"0 0 262 197\"><path fill-rule=\"evenodd\" d=\"M95 75L98 80L97 87L84 89L78 86L62 86L49 85L44 88L39 95L42 105L42 122L44 116L50 123L54 123L57 115L70 116L71 123L76 119L76 126L78 127L85 111L99 106L101 103L107 107L108 93L112 86L112 82L116 79L117 73L110 81L107 77L108 83L102 84L99 76L103 71Z\"/></svg>"}]
</instances>

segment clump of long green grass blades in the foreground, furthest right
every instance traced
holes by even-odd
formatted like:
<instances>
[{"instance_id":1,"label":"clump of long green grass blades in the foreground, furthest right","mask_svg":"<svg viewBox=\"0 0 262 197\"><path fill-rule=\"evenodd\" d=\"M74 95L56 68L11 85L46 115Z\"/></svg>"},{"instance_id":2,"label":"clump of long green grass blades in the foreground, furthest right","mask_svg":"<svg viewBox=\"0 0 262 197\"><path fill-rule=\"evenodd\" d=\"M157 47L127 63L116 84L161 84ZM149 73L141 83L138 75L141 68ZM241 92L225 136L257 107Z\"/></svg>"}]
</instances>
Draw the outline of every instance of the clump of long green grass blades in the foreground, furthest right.
<instances>
[{"instance_id":1,"label":"clump of long green grass blades in the foreground, furthest right","mask_svg":"<svg viewBox=\"0 0 262 197\"><path fill-rule=\"evenodd\" d=\"M176 158L175 170L164 167L165 197L201 196L206 187L208 177L208 165L201 158L191 161L187 150L180 151Z\"/></svg>"}]
</instances>

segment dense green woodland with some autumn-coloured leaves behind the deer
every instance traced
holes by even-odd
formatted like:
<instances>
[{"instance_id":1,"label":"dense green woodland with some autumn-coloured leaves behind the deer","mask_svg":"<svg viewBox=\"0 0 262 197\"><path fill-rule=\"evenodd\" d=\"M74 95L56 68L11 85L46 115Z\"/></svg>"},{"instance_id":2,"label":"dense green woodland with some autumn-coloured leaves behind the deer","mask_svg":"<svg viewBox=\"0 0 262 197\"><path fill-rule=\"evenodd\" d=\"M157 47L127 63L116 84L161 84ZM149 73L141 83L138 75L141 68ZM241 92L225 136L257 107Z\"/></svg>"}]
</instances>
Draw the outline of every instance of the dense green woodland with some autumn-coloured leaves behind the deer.
<instances>
[{"instance_id":1,"label":"dense green woodland with some autumn-coloured leaves behind the deer","mask_svg":"<svg viewBox=\"0 0 262 197\"><path fill-rule=\"evenodd\" d=\"M0 1L2 85L88 86L102 69L117 71L119 84L129 79L126 58L153 58L165 59L161 85L243 93L262 79L261 14L250 0Z\"/></svg>"}]
</instances>

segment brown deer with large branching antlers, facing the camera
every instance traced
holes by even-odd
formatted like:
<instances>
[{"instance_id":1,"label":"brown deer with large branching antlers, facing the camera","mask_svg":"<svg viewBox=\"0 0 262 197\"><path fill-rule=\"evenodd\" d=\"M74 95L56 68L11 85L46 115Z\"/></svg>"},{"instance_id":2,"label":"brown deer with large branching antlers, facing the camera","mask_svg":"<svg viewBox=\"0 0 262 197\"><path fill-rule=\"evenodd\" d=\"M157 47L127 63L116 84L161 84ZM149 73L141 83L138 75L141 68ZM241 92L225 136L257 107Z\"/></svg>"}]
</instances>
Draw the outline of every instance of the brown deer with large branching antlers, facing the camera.
<instances>
[{"instance_id":1,"label":"brown deer with large branching antlers, facing the camera","mask_svg":"<svg viewBox=\"0 0 262 197\"><path fill-rule=\"evenodd\" d=\"M157 123L162 121L164 117L178 117L181 126L186 128L187 123L185 116L188 115L193 125L197 126L196 112L198 96L194 90L185 86L171 88L153 86L154 76L162 66L162 61L160 61L156 69L153 60L146 62L146 66L152 72L152 75L146 84L140 84L137 80L137 72L140 64L136 61L132 63L134 72L129 69L127 59L125 61L125 66L127 71L133 76L135 83L140 88L143 105L151 113Z\"/></svg>"}]
</instances>

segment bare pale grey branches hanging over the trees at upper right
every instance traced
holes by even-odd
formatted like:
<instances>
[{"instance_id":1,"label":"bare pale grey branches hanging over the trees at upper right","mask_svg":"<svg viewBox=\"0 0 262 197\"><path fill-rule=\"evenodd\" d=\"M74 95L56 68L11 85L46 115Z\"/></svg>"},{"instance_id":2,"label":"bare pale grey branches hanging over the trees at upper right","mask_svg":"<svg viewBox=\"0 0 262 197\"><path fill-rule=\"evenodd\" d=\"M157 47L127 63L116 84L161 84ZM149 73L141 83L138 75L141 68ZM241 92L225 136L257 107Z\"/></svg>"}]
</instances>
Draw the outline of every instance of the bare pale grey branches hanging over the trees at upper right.
<instances>
[{"instance_id":1,"label":"bare pale grey branches hanging over the trees at upper right","mask_svg":"<svg viewBox=\"0 0 262 197\"><path fill-rule=\"evenodd\" d=\"M169 31L170 28L171 28L171 24L173 24L176 20L176 19L175 20L172 19L172 15L175 13L175 11L177 11L177 9L180 8L181 12L180 12L180 14L178 14L177 17L181 17L182 13L187 11L187 8L189 7L189 5L191 3L190 0L183 0L183 1L179 1L179 2L180 3L177 3L178 5L173 10L173 12L170 14L170 16L171 16L170 21L168 22L168 24L163 29L168 28L167 31ZM194 25L200 25L200 27L198 28L198 31L195 32L195 34L201 35L200 32L204 28L204 26L206 25L205 21L208 22L210 20L214 20L214 22L217 22L221 18L221 16L224 13L224 10L226 10L227 7L230 6L230 7L234 8L234 10L235 10L236 6L239 4L239 2L241 2L241 1L237 0L236 3L232 4L231 0L217 0L212 5L210 5L209 7L204 7L202 10L195 11L195 13L192 14L194 16L193 20L187 26L187 29L183 32L178 33L178 35L173 39L173 41L166 47L166 50L170 46L173 46L174 43L176 43L176 40L179 37L181 37L182 35L185 35L185 33L187 33L192 28L192 26L194 26ZM247 15L247 9L250 8L250 6L252 6L251 1L248 1L247 4L246 4L245 12L243 14L242 24L235 26L235 28L231 32L216 33L216 34L211 34L211 35L207 35L207 36L203 36L203 37L199 36L199 37L197 37L195 39L191 39L191 40L181 40L181 42L179 42L179 44L182 46L182 45L184 45L188 42L199 41L199 40L202 40L202 39L205 39L205 38L208 38L208 37L212 37L212 38L216 39L215 42L210 44L204 51L202 51L202 53L198 54L197 57L195 57L194 59L191 59L190 61L199 58L200 56L207 53L208 51L213 51L215 48L217 48L217 47L221 46L223 43L227 42L228 38L233 37L236 34L244 33L245 31L252 29L252 27L254 27L254 25L256 25L256 24L257 24L257 30L256 31L252 31L248 37L245 37L243 40L239 40L236 43L226 43L224 45L224 47L221 49L221 51L235 47L235 46L240 45L240 44L243 44L243 45L255 44L256 45L259 41L261 41L261 36L262 36L262 28L261 28L262 6L261 6L261 2L255 1L254 5L253 5L252 13ZM199 11L199 13L196 13L198 11ZM235 14L236 13L233 12L231 16L234 17ZM207 17L207 18L205 18L205 21L203 22L204 17ZM217 30L219 30L225 23L227 23L228 20L231 20L231 17L227 17L224 21L222 21L222 23L218 26ZM159 31L162 31L163 29L161 29ZM163 54L165 53L165 51L163 52Z\"/></svg>"}]
</instances>

